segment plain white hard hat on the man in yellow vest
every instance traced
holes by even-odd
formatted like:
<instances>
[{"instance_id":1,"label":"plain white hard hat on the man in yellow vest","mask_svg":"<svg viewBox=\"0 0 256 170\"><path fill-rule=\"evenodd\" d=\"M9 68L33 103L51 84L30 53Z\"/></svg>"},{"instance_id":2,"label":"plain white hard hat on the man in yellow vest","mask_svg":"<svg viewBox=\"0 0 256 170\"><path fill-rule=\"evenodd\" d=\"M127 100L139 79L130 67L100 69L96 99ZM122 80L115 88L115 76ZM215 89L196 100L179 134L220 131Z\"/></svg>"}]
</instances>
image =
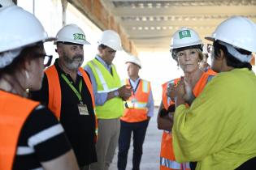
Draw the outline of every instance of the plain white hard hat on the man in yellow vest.
<instances>
[{"instance_id":1,"label":"plain white hard hat on the man in yellow vest","mask_svg":"<svg viewBox=\"0 0 256 170\"><path fill-rule=\"evenodd\" d=\"M113 30L106 30L102 32L102 36L98 40L98 45L106 45L115 51L123 49L120 36Z\"/></svg>"}]
</instances>

